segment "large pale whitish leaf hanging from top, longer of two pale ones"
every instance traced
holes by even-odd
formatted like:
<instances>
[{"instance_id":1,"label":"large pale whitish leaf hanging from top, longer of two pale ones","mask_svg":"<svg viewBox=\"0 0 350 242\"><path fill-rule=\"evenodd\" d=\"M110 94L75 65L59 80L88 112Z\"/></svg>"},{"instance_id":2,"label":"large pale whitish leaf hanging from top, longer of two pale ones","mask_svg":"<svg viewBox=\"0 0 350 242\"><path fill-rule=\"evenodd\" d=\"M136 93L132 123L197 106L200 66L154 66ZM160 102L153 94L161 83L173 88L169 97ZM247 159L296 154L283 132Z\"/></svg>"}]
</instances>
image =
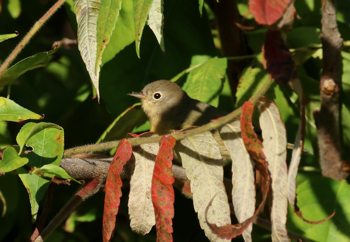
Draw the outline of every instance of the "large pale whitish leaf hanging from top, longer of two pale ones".
<instances>
[{"instance_id":1,"label":"large pale whitish leaf hanging from top, longer of two pale ones","mask_svg":"<svg viewBox=\"0 0 350 242\"><path fill-rule=\"evenodd\" d=\"M100 92L98 80L100 63L98 63L96 71L95 63L97 53L97 17L101 0L74 0L73 4L78 23L78 49L86 65L86 70L89 72L99 100Z\"/></svg>"}]
</instances>

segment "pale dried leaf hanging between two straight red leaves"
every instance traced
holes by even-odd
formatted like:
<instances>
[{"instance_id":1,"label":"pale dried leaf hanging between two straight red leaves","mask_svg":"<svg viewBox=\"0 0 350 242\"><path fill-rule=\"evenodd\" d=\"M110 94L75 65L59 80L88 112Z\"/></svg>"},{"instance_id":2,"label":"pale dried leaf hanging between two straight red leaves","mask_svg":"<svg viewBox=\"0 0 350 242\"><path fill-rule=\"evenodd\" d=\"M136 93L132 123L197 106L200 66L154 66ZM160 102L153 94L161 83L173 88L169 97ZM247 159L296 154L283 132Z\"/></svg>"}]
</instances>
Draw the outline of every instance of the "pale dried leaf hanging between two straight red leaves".
<instances>
[{"instance_id":1,"label":"pale dried leaf hanging between two straight red leaves","mask_svg":"<svg viewBox=\"0 0 350 242\"><path fill-rule=\"evenodd\" d=\"M135 137L158 136L144 133ZM139 234L147 234L155 224L151 197L154 161L159 150L158 143L142 144L133 148L135 169L130 179L129 215L130 227Z\"/></svg>"}]
</instances>

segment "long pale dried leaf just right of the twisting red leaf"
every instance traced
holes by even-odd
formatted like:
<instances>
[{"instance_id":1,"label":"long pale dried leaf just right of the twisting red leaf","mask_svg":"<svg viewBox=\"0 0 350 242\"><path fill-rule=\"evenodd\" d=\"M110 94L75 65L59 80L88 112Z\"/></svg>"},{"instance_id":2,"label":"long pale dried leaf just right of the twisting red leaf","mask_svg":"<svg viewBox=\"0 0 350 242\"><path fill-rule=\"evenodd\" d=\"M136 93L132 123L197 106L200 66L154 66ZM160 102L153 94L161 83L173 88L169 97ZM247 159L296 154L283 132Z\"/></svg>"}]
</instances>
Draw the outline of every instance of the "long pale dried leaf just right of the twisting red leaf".
<instances>
[{"instance_id":1,"label":"long pale dried leaf just right of the twisting red leaf","mask_svg":"<svg viewBox=\"0 0 350 242\"><path fill-rule=\"evenodd\" d=\"M287 134L276 104L266 97L259 99L260 127L262 130L262 145L271 173L272 207L271 207L271 238L272 241L289 242L287 235Z\"/></svg>"}]
</instances>

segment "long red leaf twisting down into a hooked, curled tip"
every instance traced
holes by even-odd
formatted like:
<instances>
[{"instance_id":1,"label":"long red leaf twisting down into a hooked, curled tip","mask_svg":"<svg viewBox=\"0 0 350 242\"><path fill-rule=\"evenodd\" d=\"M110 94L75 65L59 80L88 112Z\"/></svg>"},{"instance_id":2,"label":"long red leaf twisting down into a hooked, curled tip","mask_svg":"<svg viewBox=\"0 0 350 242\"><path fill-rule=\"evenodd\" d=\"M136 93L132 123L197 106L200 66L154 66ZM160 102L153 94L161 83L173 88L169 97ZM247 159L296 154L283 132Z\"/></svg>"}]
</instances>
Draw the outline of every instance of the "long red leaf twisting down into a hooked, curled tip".
<instances>
[{"instance_id":1,"label":"long red leaf twisting down into a hooked, curled tip","mask_svg":"<svg viewBox=\"0 0 350 242\"><path fill-rule=\"evenodd\" d=\"M254 132L252 125L253 111L254 106L251 102L245 102L243 104L241 114L241 133L246 149L252 157L255 166L258 168L261 174L262 201L257 210L255 210L254 215L241 223L216 226L216 224L209 223L207 221L210 229L222 238L231 239L243 233L243 231L249 226L249 224L251 224L255 220L255 217L259 214L260 209L264 206L267 197L267 192L270 186L270 177L267 170L265 155L262 152L262 143L258 139L257 134ZM214 200L214 198L212 200ZM212 201L210 201L209 205L207 206L207 209L205 210L205 217L207 217L207 213L211 203Z\"/></svg>"}]
</instances>

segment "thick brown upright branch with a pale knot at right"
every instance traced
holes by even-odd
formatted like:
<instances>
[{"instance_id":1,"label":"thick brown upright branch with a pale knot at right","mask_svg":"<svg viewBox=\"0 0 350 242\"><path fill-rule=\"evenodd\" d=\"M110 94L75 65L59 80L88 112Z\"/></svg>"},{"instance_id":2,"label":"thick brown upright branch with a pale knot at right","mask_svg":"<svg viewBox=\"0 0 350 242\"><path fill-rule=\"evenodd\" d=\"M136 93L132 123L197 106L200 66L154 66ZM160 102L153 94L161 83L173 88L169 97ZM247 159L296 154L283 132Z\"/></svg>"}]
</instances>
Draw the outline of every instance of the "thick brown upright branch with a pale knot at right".
<instances>
[{"instance_id":1,"label":"thick brown upright branch with a pale knot at right","mask_svg":"<svg viewBox=\"0 0 350 242\"><path fill-rule=\"evenodd\" d=\"M339 72L340 53L343 39L336 20L336 0L324 0L322 9L323 71L320 82L321 109L314 110L317 126L318 148L322 175L335 180L348 177L343 170L343 159L339 132L339 92L341 76Z\"/></svg>"}]
</instances>

